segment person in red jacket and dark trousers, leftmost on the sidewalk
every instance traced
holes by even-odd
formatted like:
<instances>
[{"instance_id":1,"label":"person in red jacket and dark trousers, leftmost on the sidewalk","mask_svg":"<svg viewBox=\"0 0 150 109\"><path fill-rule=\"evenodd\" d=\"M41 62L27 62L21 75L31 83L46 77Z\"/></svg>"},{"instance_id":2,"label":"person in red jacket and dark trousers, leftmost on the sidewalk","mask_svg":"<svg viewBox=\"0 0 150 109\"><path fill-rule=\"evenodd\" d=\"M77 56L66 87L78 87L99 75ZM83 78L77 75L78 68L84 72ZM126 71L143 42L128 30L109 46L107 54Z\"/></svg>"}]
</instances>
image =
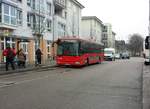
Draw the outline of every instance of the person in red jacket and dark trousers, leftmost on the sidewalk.
<instances>
[{"instance_id":1,"label":"person in red jacket and dark trousers, leftmost on the sidewalk","mask_svg":"<svg viewBox=\"0 0 150 109\"><path fill-rule=\"evenodd\" d=\"M15 70L14 57L16 56L16 53L14 50L11 49L10 46L7 46L3 51L3 56L6 56L6 71L8 71L9 64L11 64L11 68Z\"/></svg>"}]
</instances>

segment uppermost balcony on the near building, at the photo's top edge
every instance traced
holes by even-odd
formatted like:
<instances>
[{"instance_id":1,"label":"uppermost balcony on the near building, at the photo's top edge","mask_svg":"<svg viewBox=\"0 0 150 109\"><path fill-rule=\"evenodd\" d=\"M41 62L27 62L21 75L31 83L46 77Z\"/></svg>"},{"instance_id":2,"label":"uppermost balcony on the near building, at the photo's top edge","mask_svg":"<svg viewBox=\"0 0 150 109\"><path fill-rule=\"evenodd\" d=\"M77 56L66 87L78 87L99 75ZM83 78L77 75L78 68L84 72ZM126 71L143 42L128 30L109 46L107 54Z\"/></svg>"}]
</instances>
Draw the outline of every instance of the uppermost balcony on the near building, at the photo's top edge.
<instances>
[{"instance_id":1,"label":"uppermost balcony on the near building, at the photo's top edge","mask_svg":"<svg viewBox=\"0 0 150 109\"><path fill-rule=\"evenodd\" d=\"M54 5L56 10L62 10L66 7L65 0L54 0Z\"/></svg>"}]
</instances>

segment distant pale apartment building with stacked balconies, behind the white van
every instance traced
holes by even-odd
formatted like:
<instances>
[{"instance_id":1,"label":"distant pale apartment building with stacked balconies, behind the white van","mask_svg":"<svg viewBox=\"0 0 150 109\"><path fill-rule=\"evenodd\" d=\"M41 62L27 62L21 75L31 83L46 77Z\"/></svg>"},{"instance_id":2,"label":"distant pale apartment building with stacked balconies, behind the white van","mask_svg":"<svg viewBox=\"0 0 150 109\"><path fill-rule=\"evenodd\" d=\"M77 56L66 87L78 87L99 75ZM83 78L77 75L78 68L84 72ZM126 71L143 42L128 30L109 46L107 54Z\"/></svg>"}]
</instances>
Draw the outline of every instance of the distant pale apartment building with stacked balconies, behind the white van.
<instances>
[{"instance_id":1,"label":"distant pale apartment building with stacked balconies, behind the white van","mask_svg":"<svg viewBox=\"0 0 150 109\"><path fill-rule=\"evenodd\" d=\"M102 42L105 48L115 48L116 33L112 31L112 25L109 23L104 24Z\"/></svg>"}]
</instances>

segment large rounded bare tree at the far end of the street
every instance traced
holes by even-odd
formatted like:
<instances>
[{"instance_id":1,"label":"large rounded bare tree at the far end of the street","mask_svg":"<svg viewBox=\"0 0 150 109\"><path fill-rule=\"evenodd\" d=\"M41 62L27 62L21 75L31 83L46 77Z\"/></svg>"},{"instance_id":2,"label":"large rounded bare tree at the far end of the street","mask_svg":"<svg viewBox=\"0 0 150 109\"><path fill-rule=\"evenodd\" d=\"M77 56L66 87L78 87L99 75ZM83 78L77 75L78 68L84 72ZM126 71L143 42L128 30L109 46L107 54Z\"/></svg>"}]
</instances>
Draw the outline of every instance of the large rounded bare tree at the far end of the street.
<instances>
[{"instance_id":1,"label":"large rounded bare tree at the far end of the street","mask_svg":"<svg viewBox=\"0 0 150 109\"><path fill-rule=\"evenodd\" d=\"M143 40L143 37L137 33L129 38L129 49L133 56L140 56L143 51Z\"/></svg>"}]
</instances>

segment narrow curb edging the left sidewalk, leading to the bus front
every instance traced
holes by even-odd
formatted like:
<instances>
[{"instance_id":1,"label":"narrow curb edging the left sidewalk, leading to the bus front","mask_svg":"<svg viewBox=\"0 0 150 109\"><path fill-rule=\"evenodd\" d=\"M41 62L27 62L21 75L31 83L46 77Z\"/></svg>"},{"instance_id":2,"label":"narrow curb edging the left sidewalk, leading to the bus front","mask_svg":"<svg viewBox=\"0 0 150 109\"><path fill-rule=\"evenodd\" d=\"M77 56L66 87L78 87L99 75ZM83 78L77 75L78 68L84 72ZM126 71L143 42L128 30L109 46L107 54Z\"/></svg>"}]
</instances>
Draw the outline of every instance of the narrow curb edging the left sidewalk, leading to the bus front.
<instances>
[{"instance_id":1,"label":"narrow curb edging the left sidewalk, leading to the bus front","mask_svg":"<svg viewBox=\"0 0 150 109\"><path fill-rule=\"evenodd\" d=\"M44 65L44 66L39 66L39 67L16 69L16 70L11 70L11 71L3 71L2 73L0 73L0 75L8 75L8 74L27 72L27 71L37 71L37 70L40 70L40 69L54 68L56 66L57 65Z\"/></svg>"}]
</instances>

